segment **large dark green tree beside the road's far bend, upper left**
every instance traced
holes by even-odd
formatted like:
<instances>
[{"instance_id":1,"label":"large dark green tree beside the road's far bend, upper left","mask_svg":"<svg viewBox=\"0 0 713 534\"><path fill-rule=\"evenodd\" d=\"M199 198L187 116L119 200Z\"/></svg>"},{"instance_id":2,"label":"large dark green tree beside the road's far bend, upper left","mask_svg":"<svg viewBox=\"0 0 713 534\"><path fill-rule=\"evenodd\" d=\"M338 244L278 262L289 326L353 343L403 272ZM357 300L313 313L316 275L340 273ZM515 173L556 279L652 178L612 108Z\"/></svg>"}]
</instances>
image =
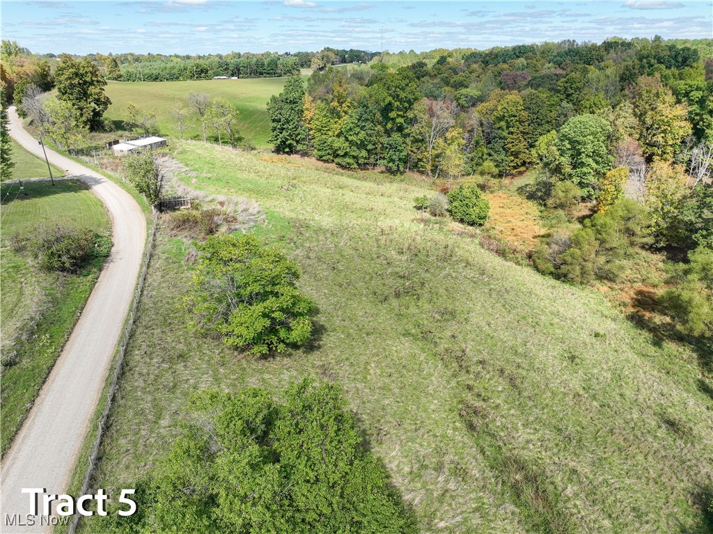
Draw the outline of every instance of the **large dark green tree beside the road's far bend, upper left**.
<instances>
[{"instance_id":1,"label":"large dark green tree beside the road's far bend, upper left","mask_svg":"<svg viewBox=\"0 0 713 534\"><path fill-rule=\"evenodd\" d=\"M77 61L62 56L55 71L55 83L59 100L72 106L78 124L90 130L100 129L101 118L111 100L104 94L106 80L96 65L88 59Z\"/></svg>"}]
</instances>

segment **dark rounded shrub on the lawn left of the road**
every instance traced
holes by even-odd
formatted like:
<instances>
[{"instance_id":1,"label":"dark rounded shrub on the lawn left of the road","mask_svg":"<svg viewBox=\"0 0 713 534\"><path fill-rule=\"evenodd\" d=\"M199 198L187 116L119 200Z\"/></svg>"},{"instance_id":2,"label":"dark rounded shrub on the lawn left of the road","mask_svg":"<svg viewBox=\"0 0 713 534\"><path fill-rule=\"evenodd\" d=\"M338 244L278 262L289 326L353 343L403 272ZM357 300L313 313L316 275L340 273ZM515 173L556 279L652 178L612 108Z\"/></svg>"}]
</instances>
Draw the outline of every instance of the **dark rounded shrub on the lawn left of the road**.
<instances>
[{"instance_id":1,"label":"dark rounded shrub on the lawn left of the road","mask_svg":"<svg viewBox=\"0 0 713 534\"><path fill-rule=\"evenodd\" d=\"M15 237L16 251L25 250L42 269L79 272L92 257L109 254L111 240L88 228L38 225L31 234Z\"/></svg>"}]
</instances>

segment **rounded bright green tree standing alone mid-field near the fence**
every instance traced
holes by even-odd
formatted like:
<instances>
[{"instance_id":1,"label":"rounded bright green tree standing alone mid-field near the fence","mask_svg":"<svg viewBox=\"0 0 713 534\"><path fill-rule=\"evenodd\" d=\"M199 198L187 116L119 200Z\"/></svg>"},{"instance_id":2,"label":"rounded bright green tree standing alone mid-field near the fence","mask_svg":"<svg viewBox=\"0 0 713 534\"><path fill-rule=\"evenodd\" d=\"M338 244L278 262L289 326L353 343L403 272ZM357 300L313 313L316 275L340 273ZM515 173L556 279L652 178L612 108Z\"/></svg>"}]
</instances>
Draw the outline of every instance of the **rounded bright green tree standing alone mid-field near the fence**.
<instances>
[{"instance_id":1,"label":"rounded bright green tree standing alone mid-field near the fence","mask_svg":"<svg viewBox=\"0 0 713 534\"><path fill-rule=\"evenodd\" d=\"M200 257L185 304L193 327L256 355L302 345L312 334L312 301L299 294L299 267L251 236L215 235Z\"/></svg>"}]
</instances>

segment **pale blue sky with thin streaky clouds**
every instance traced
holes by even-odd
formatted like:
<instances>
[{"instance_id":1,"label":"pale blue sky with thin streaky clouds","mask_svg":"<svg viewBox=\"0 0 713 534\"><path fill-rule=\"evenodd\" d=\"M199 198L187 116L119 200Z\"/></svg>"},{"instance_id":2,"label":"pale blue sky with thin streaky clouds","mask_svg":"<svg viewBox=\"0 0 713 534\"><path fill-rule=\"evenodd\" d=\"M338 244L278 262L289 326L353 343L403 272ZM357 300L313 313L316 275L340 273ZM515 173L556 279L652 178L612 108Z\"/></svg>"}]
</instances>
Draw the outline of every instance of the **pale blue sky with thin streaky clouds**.
<instances>
[{"instance_id":1,"label":"pale blue sky with thin streaky clouds","mask_svg":"<svg viewBox=\"0 0 713 534\"><path fill-rule=\"evenodd\" d=\"M416 52L620 36L713 38L713 0L18 1L2 38L34 53Z\"/></svg>"}]
</instances>

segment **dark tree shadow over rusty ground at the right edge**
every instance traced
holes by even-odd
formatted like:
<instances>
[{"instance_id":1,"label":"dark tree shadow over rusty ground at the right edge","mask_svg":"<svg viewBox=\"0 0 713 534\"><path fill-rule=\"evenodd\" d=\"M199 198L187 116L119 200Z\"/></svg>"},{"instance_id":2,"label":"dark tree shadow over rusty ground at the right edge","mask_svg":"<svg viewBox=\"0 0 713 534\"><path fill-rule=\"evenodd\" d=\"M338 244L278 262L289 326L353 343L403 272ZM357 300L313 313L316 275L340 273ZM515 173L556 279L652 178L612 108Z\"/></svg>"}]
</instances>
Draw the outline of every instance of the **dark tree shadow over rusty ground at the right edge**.
<instances>
[{"instance_id":1,"label":"dark tree shadow over rusty ground at the right edge","mask_svg":"<svg viewBox=\"0 0 713 534\"><path fill-rule=\"evenodd\" d=\"M652 334L654 346L661 347L667 341L685 344L697 354L701 368L705 372L713 372L713 339L685 334L677 328L675 322L664 320L657 294L650 289L637 289L632 305L635 311L630 312L627 319Z\"/></svg>"}]
</instances>

